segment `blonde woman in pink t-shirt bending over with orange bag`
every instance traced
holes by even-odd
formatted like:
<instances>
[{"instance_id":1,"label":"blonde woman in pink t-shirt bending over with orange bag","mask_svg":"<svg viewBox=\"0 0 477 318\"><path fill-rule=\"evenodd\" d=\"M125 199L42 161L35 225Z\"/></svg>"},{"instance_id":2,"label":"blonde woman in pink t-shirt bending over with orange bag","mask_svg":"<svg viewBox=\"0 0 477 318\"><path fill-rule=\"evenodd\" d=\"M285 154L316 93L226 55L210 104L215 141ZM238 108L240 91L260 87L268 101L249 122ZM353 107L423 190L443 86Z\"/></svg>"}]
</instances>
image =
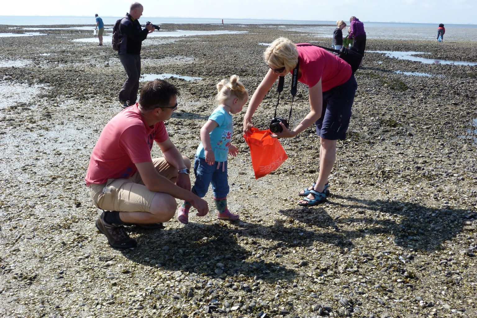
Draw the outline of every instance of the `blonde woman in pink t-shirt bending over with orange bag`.
<instances>
[{"instance_id":1,"label":"blonde woman in pink t-shirt bending over with orange bag","mask_svg":"<svg viewBox=\"0 0 477 318\"><path fill-rule=\"evenodd\" d=\"M320 172L316 183L303 189L299 205L317 205L329 194L328 176L336 158L336 140L344 139L351 118L351 106L357 84L351 66L336 55L308 43L294 44L288 39L273 41L264 53L269 71L250 99L243 120L243 131L253 127L253 113L279 76L292 72L298 65L298 81L308 85L310 112L301 123L272 137L291 138L315 123L320 136Z\"/></svg>"}]
</instances>

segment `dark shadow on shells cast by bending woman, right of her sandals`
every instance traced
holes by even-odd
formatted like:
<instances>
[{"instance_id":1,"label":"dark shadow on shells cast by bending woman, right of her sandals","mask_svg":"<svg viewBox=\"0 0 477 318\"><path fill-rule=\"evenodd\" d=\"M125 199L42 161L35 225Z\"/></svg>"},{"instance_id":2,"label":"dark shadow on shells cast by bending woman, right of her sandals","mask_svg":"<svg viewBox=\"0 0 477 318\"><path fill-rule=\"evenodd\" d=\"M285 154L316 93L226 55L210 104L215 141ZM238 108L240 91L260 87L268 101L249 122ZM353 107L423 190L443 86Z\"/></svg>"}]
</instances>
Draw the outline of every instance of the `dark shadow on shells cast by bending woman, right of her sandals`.
<instances>
[{"instance_id":1,"label":"dark shadow on shells cast by bending woman, right of her sandals","mask_svg":"<svg viewBox=\"0 0 477 318\"><path fill-rule=\"evenodd\" d=\"M296 208L280 210L280 213L300 222L332 227L336 234L324 237L316 233L316 240L339 242L376 234L394 236L394 242L404 248L434 251L447 240L462 232L463 222L476 217L475 212L464 209L433 208L410 202L391 200L360 200L351 196L333 195L342 199L334 203L345 209L353 210L353 216L333 220L323 207ZM395 219L401 220L396 222ZM346 224L359 225L356 230L340 230Z\"/></svg>"}]
</instances>

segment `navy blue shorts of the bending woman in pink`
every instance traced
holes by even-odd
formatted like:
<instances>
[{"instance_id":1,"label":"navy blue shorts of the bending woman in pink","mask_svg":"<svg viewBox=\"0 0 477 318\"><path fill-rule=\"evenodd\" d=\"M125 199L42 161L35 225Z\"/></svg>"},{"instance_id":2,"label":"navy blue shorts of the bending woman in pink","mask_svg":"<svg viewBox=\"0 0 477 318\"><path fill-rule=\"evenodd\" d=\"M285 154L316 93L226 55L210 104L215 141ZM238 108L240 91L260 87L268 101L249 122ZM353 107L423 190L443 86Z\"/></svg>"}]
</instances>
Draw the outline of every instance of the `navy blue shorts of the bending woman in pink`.
<instances>
[{"instance_id":1,"label":"navy blue shorts of the bending woman in pink","mask_svg":"<svg viewBox=\"0 0 477 318\"><path fill-rule=\"evenodd\" d=\"M351 75L344 84L323 92L321 117L315 122L318 136L328 140L345 138L357 87L354 75Z\"/></svg>"}]
</instances>

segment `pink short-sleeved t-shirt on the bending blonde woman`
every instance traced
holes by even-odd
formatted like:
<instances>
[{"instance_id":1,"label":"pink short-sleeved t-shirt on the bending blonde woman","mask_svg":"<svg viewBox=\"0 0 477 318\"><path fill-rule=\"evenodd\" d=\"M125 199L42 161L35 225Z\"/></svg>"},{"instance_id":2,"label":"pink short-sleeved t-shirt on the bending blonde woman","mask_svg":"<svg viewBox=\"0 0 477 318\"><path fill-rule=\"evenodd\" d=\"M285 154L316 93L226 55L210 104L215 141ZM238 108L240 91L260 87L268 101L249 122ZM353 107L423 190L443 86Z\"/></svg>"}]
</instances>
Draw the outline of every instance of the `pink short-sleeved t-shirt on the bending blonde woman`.
<instances>
[{"instance_id":1,"label":"pink short-sleeved t-shirt on the bending blonde woman","mask_svg":"<svg viewBox=\"0 0 477 318\"><path fill-rule=\"evenodd\" d=\"M309 43L301 43L309 44ZM316 46L297 44L301 76L298 79L308 87L313 87L321 79L322 91L348 81L352 75L351 66L333 53Z\"/></svg>"}]
</instances>

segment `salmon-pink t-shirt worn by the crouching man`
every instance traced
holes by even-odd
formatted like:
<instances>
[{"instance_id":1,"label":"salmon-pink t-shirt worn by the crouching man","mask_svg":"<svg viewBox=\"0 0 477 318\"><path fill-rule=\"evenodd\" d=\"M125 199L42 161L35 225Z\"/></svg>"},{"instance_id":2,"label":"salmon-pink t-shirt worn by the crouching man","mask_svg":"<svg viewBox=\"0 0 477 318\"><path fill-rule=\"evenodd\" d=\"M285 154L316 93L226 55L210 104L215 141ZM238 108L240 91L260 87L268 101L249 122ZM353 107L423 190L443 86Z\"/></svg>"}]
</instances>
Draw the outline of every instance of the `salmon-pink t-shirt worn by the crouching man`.
<instances>
[{"instance_id":1,"label":"salmon-pink t-shirt worn by the crouching man","mask_svg":"<svg viewBox=\"0 0 477 318\"><path fill-rule=\"evenodd\" d=\"M137 171L135 164L152 162L154 141L162 143L168 137L164 122L146 125L137 103L126 108L104 126L91 154L86 185L129 178Z\"/></svg>"}]
</instances>

